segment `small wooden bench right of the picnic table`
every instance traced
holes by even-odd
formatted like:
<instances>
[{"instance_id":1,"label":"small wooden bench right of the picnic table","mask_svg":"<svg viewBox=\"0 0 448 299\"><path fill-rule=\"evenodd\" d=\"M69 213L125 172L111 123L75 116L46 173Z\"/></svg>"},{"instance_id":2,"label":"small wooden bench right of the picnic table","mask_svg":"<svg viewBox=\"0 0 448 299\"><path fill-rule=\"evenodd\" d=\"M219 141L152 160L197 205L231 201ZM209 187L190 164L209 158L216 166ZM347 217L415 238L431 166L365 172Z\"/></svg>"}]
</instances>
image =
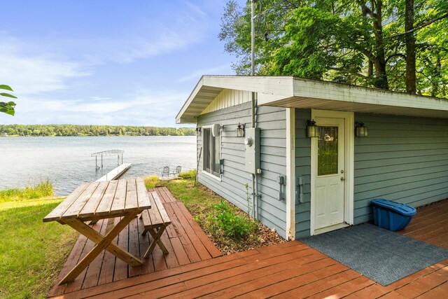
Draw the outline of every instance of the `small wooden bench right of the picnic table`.
<instances>
[{"instance_id":1,"label":"small wooden bench right of the picnic table","mask_svg":"<svg viewBox=\"0 0 448 299\"><path fill-rule=\"evenodd\" d=\"M144 231L142 235L146 235L146 232L149 232L151 237L153 237L153 241L149 244L148 250L145 253L145 258L153 253L155 244L159 245L164 254L168 253L168 250L160 237L162 237L163 232L165 232L165 228L171 224L171 219L169 218L167 211L165 210L165 207L160 201L157 193L151 192L150 194L152 196L148 197L151 200L151 209L144 210L140 216L144 223Z\"/></svg>"}]
</instances>

